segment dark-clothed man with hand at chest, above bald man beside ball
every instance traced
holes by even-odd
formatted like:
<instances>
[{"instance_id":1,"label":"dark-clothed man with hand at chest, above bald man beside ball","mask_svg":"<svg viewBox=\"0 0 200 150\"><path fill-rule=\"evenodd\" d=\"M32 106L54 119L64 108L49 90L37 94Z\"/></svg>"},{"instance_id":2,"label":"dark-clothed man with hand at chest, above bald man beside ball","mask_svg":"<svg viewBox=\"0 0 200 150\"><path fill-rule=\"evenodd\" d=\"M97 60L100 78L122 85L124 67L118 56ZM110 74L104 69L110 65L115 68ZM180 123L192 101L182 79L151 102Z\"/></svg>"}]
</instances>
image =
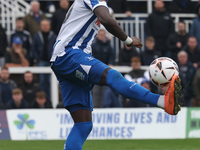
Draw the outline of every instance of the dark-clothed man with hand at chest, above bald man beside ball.
<instances>
[{"instance_id":1,"label":"dark-clothed man with hand at chest, above bald man beside ball","mask_svg":"<svg viewBox=\"0 0 200 150\"><path fill-rule=\"evenodd\" d=\"M172 33L168 40L167 46L171 52L171 58L177 61L177 54L187 44L188 33L186 33L186 27L184 22L178 23L178 32Z\"/></svg>"}]
</instances>

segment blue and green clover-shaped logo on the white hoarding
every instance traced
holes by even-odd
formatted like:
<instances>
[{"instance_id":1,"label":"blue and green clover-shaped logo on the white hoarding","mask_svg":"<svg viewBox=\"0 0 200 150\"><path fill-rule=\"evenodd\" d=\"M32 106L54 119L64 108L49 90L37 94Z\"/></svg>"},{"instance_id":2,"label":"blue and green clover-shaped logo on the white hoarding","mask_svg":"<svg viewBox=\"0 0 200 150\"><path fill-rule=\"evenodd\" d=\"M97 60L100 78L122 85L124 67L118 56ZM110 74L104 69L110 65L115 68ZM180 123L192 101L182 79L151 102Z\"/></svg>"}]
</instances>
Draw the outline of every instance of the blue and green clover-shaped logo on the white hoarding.
<instances>
[{"instance_id":1,"label":"blue and green clover-shaped logo on the white hoarding","mask_svg":"<svg viewBox=\"0 0 200 150\"><path fill-rule=\"evenodd\" d=\"M29 120L28 114L18 114L17 117L19 120L14 121L17 129L21 130L24 126L27 126L29 129L34 129L35 121Z\"/></svg>"}]
</instances>

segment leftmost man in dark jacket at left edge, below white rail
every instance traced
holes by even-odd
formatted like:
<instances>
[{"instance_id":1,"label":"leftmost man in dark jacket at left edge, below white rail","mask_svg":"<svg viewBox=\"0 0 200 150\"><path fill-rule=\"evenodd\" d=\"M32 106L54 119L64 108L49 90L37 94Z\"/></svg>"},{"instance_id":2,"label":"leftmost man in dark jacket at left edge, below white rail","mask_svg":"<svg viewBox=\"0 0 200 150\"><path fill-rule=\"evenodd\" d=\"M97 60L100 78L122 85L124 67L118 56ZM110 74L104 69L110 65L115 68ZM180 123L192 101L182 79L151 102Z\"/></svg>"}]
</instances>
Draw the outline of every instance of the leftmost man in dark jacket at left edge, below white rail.
<instances>
[{"instance_id":1,"label":"leftmost man in dark jacket at left edge, below white rail","mask_svg":"<svg viewBox=\"0 0 200 150\"><path fill-rule=\"evenodd\" d=\"M12 90L17 87L13 80L9 79L10 74L7 67L1 68L1 79L0 79L0 99L3 105L6 106L7 102L12 98Z\"/></svg>"}]
</instances>

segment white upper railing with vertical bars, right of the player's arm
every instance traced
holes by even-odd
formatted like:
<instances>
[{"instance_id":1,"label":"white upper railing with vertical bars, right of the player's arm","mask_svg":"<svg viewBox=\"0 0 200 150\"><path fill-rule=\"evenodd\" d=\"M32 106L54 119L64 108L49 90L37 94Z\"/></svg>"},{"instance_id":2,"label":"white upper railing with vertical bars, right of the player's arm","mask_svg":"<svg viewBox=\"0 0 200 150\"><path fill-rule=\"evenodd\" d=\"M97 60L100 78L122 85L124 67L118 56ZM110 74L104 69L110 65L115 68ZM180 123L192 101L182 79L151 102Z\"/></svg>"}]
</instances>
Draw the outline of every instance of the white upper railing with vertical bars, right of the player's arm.
<instances>
[{"instance_id":1,"label":"white upper railing with vertical bars, right of the player's arm","mask_svg":"<svg viewBox=\"0 0 200 150\"><path fill-rule=\"evenodd\" d=\"M136 36L139 37L144 43L145 41L145 23L148 14L132 14L131 18L126 19L125 14L115 14L114 15L117 22L123 28L126 33L129 33L129 36ZM186 24L186 31L189 32L189 26L192 24L192 19L196 17L195 14L171 14L172 18L174 19L175 29L177 29L177 23L179 20L184 20ZM123 18L123 19L121 19ZM118 62L118 54L119 49L123 48L124 44L116 37L113 38L112 46L116 51L116 62ZM141 49L144 50L144 46ZM139 50L138 50L139 51Z\"/></svg>"}]
</instances>

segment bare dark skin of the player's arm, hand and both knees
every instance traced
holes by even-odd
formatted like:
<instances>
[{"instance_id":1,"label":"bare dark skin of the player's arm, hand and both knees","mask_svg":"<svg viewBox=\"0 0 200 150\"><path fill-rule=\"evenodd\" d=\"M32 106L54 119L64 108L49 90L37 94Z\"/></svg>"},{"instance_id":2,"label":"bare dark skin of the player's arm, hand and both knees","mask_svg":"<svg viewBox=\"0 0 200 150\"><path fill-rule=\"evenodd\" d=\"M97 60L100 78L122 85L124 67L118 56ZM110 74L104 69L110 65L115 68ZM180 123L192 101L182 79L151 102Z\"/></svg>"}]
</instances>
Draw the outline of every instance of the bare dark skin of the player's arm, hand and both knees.
<instances>
[{"instance_id":1,"label":"bare dark skin of the player's arm, hand and both knees","mask_svg":"<svg viewBox=\"0 0 200 150\"><path fill-rule=\"evenodd\" d=\"M125 41L127 39L126 33L121 29L121 27L118 25L118 23L112 18L110 15L108 9L105 6L99 6L94 10L95 15L101 22L101 24L104 25L104 27L114 36L119 38L121 41ZM133 42L130 45L127 46L135 46L137 48L141 48L143 45L141 43L141 40L137 37L132 37ZM101 85L106 85L106 76L108 70L111 68L107 68L102 77L101 77ZM75 123L77 122L87 122L92 121L92 112L90 110L77 110L71 114L73 120Z\"/></svg>"}]
</instances>

